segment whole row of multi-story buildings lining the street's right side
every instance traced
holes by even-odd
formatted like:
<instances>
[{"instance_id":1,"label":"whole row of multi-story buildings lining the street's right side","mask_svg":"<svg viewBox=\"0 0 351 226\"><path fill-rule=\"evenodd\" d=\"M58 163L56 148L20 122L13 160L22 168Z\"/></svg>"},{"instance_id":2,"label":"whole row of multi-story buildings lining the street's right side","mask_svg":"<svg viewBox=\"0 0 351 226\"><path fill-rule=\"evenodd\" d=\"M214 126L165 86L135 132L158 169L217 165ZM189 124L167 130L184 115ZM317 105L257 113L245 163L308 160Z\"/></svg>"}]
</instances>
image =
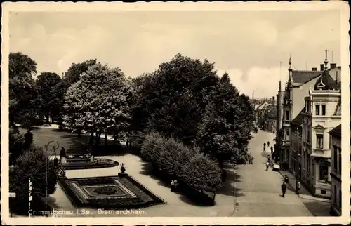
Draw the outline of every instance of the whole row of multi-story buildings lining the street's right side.
<instances>
[{"instance_id":1,"label":"whole row of multi-story buildings lining the street's right side","mask_svg":"<svg viewBox=\"0 0 351 226\"><path fill-rule=\"evenodd\" d=\"M341 67L324 61L321 69L293 70L285 90L279 81L276 156L316 197L330 197L341 213Z\"/></svg>"}]
</instances>

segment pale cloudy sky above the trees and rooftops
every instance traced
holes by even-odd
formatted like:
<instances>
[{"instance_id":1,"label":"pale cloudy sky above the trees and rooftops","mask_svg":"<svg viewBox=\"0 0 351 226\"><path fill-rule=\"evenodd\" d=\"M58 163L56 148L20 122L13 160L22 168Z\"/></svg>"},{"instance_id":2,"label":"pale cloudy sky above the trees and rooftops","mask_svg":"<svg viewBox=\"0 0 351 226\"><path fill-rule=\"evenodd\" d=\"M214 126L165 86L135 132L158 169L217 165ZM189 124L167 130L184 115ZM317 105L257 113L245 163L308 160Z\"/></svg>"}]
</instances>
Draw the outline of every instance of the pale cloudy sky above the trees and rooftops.
<instances>
[{"instance_id":1,"label":"pale cloudy sky above the trees and rooftops","mask_svg":"<svg viewBox=\"0 0 351 226\"><path fill-rule=\"evenodd\" d=\"M12 12L9 32L38 74L97 58L138 77L181 53L214 62L250 98L277 94L289 55L293 69L319 68L328 49L340 65L339 11Z\"/></svg>"}]
</instances>

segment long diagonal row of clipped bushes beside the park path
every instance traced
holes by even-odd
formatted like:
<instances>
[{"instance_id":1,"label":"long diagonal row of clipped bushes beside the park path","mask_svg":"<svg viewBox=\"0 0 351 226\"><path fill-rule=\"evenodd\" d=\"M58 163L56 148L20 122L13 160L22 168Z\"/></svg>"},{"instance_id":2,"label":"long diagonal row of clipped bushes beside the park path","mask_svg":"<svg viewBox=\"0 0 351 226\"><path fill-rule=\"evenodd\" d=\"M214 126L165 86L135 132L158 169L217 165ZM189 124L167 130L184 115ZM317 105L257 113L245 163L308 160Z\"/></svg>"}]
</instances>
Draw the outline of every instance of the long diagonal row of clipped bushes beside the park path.
<instances>
[{"instance_id":1,"label":"long diagonal row of clipped bushes beside the park path","mask_svg":"<svg viewBox=\"0 0 351 226\"><path fill-rule=\"evenodd\" d=\"M216 161L190 148L179 140L159 133L146 136L140 154L162 173L177 178L195 190L216 192L221 183L221 170Z\"/></svg>"}]
</instances>

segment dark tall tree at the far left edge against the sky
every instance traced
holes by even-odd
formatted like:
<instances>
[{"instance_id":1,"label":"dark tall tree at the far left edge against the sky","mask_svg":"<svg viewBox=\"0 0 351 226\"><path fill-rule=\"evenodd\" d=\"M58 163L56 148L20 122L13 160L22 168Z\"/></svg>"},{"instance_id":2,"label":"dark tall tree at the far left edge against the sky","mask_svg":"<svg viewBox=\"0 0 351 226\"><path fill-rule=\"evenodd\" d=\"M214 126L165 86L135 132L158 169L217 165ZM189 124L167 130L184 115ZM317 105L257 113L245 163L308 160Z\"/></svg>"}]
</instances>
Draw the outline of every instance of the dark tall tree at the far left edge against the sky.
<instances>
[{"instance_id":1,"label":"dark tall tree at the far left edge against the sky","mask_svg":"<svg viewBox=\"0 0 351 226\"><path fill-rule=\"evenodd\" d=\"M33 75L37 62L22 53L9 55L9 119L11 124L32 126L39 119L41 98Z\"/></svg>"}]
</instances>

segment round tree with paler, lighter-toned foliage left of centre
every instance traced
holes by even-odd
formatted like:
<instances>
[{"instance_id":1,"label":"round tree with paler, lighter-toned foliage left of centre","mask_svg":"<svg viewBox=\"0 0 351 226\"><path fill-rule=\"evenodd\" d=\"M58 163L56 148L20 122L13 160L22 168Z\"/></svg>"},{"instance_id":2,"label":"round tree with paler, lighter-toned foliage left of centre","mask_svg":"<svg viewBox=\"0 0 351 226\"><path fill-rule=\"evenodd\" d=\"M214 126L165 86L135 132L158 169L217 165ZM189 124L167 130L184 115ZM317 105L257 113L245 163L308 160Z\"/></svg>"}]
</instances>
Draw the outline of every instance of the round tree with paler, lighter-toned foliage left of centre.
<instances>
[{"instance_id":1,"label":"round tree with paler, lighter-toned foliage left of centre","mask_svg":"<svg viewBox=\"0 0 351 226\"><path fill-rule=\"evenodd\" d=\"M67 90L64 124L97 133L98 138L110 131L124 133L129 126L130 93L131 87L120 69L93 65Z\"/></svg>"}]
</instances>

